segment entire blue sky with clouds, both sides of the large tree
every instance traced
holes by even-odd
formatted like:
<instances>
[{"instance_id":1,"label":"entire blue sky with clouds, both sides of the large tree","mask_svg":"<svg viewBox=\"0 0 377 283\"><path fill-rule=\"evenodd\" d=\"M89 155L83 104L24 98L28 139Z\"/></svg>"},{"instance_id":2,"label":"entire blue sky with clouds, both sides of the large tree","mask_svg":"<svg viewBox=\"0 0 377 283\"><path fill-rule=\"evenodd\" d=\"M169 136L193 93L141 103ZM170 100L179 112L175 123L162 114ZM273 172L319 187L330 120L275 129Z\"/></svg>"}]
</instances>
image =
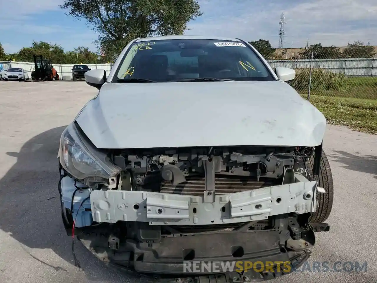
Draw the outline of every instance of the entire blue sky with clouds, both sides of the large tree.
<instances>
[{"instance_id":1,"label":"entire blue sky with clouds, both sides of the large tree","mask_svg":"<svg viewBox=\"0 0 377 283\"><path fill-rule=\"evenodd\" d=\"M63 0L2 1L0 42L5 52L17 52L33 40L61 45L64 50L87 46L97 51L97 35L64 14ZM198 0L204 14L188 24L186 34L214 34L244 40L279 43L279 18L286 18L284 47L321 42L345 46L348 40L377 45L376 0ZM266 4L267 3L267 4Z\"/></svg>"}]
</instances>

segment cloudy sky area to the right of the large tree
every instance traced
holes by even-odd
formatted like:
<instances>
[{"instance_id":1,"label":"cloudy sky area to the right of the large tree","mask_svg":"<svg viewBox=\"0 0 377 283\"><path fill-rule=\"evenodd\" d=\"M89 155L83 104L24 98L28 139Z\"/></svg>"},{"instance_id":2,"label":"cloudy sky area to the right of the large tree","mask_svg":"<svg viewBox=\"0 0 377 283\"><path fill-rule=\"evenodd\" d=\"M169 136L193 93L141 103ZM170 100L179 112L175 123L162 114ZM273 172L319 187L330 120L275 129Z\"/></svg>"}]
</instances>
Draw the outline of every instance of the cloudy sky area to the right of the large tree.
<instances>
[{"instance_id":1,"label":"cloudy sky area to the right of the large tree","mask_svg":"<svg viewBox=\"0 0 377 283\"><path fill-rule=\"evenodd\" d=\"M295 1L296 2L296 1ZM211 5L212 3L212 5ZM285 13L285 47L307 43L344 46L355 40L377 45L377 1L313 0L291 3L280 1L223 0L222 5L203 2L201 19L190 22L186 34L215 34L244 40L279 42L280 14Z\"/></svg>"}]
</instances>

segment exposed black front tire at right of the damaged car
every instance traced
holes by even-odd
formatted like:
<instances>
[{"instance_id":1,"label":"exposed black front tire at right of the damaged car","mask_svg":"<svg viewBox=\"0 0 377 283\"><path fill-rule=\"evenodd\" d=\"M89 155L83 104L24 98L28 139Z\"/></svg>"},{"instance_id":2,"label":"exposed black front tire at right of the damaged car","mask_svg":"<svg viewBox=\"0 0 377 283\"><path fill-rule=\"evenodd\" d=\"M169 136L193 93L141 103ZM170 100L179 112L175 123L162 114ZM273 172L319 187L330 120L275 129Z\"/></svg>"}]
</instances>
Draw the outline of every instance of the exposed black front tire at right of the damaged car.
<instances>
[{"instance_id":1,"label":"exposed black front tire at right of the damaged car","mask_svg":"<svg viewBox=\"0 0 377 283\"><path fill-rule=\"evenodd\" d=\"M313 165L314 165L314 154L307 161L307 171L310 175L309 179L317 181L318 186L325 189L324 194L318 194L316 196L317 200L317 210L314 212L309 222L312 223L322 223L325 221L331 212L334 200L334 184L333 175L331 174L331 168L329 161L325 152L322 149L321 162L320 162L320 172L313 179Z\"/></svg>"}]
</instances>

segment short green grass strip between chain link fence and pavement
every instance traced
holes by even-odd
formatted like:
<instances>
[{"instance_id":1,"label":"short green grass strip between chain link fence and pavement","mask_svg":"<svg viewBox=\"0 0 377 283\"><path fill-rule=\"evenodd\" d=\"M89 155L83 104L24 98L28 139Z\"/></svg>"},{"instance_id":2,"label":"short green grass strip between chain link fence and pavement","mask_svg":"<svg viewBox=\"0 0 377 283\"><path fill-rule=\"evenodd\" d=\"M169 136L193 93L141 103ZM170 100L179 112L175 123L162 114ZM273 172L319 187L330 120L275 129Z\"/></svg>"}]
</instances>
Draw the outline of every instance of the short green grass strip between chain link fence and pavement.
<instances>
[{"instance_id":1,"label":"short green grass strip between chain link fence and pavement","mask_svg":"<svg viewBox=\"0 0 377 283\"><path fill-rule=\"evenodd\" d=\"M310 95L310 102L325 115L329 124L377 134L377 100Z\"/></svg>"}]
</instances>

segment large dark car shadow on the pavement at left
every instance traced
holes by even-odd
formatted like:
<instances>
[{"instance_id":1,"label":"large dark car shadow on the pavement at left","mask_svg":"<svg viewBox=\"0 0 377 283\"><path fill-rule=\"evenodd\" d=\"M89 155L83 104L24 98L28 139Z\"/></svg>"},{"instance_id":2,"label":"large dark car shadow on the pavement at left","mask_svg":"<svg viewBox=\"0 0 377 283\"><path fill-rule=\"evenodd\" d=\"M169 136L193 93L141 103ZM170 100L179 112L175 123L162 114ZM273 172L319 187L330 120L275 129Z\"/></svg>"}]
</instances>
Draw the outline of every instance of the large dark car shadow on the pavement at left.
<instances>
[{"instance_id":1,"label":"large dark car shadow on the pavement at left","mask_svg":"<svg viewBox=\"0 0 377 283\"><path fill-rule=\"evenodd\" d=\"M64 268L66 264L64 267L51 265L46 262L48 256L38 258L32 251L52 249L74 268L72 238L63 228L57 189L57 152L64 128L54 128L35 136L23 145L20 152L7 152L17 158L17 162L0 180L0 229L9 233L27 254L46 268L65 273L68 272ZM124 274L107 268L77 240L75 253L89 280L118 281L123 277L121 281L125 281Z\"/></svg>"}]
</instances>

